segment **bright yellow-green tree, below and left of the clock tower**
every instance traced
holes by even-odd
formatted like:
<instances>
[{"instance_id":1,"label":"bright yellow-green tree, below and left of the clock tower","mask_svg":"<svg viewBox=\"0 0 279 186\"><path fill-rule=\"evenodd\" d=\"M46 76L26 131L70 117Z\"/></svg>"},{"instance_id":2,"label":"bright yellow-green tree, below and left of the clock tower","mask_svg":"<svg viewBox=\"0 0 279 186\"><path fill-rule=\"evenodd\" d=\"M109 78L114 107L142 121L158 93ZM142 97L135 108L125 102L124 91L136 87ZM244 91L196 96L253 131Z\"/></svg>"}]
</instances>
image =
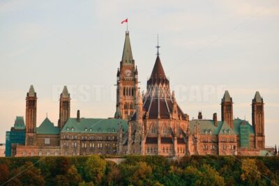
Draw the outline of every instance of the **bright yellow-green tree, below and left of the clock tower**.
<instances>
[{"instance_id":1,"label":"bright yellow-green tree, below and left of the clock tower","mask_svg":"<svg viewBox=\"0 0 279 186\"><path fill-rule=\"evenodd\" d=\"M98 155L92 155L85 163L84 171L86 178L99 185L105 175L105 167L105 160L101 159Z\"/></svg>"}]
</instances>

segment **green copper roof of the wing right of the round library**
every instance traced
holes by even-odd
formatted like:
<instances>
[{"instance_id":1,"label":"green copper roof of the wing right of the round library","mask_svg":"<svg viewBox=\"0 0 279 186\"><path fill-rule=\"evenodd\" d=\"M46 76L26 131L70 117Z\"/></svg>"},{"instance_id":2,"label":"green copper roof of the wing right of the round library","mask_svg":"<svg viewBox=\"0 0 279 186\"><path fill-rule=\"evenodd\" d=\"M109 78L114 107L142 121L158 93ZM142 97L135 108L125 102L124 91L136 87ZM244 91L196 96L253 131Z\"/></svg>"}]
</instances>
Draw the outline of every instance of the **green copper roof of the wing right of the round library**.
<instances>
[{"instance_id":1,"label":"green copper roof of the wing right of the round library","mask_svg":"<svg viewBox=\"0 0 279 186\"><path fill-rule=\"evenodd\" d=\"M248 123L248 121L243 121L239 118L234 120L234 130L232 130L227 122L218 121L217 126L214 125L212 120L193 120L189 122L190 132L194 133L195 125L199 123L200 134L239 134L240 133L240 125L245 122L249 125L250 134L255 134L252 125ZM225 132L224 132L225 129ZM228 131L230 130L230 132Z\"/></svg>"}]
</instances>

